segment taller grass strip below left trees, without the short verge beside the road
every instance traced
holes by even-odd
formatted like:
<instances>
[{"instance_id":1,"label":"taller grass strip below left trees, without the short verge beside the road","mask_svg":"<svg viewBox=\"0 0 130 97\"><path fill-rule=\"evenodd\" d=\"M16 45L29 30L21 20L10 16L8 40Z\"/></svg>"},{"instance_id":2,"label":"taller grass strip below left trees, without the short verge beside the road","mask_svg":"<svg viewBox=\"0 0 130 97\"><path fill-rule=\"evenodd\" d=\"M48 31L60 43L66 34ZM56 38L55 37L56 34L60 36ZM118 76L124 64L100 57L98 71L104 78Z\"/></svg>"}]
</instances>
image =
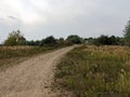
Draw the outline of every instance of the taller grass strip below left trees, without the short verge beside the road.
<instances>
[{"instance_id":1,"label":"taller grass strip below left trees, without the short verge beside the road","mask_svg":"<svg viewBox=\"0 0 130 97\"><path fill-rule=\"evenodd\" d=\"M51 46L1 46L0 47L0 59L12 58L12 57L23 57L30 56L38 53L43 53L49 50L54 50Z\"/></svg>"}]
</instances>

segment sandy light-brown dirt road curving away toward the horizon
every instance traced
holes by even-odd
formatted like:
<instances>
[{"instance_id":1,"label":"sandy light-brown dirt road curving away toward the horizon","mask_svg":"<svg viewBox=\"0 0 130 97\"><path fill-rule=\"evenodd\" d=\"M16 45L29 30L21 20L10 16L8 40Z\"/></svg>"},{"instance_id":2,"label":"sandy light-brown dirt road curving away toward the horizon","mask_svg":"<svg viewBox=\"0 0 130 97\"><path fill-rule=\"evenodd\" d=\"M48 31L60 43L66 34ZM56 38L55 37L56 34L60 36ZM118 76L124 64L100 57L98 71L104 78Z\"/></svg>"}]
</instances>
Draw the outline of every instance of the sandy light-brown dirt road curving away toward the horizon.
<instances>
[{"instance_id":1,"label":"sandy light-brown dirt road curving away toward the horizon","mask_svg":"<svg viewBox=\"0 0 130 97\"><path fill-rule=\"evenodd\" d=\"M57 97L51 92L56 61L74 46L38 55L0 72L0 97Z\"/></svg>"}]
</instances>

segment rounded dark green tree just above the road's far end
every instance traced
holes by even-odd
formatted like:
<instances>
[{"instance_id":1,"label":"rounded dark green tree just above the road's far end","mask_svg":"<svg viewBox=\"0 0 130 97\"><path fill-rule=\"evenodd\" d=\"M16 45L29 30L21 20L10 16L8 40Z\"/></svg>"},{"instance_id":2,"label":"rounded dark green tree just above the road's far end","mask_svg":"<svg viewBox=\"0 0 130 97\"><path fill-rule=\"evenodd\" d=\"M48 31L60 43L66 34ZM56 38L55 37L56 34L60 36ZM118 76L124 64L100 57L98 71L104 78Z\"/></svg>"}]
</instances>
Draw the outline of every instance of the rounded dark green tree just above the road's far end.
<instances>
[{"instance_id":1,"label":"rounded dark green tree just above the road's far end","mask_svg":"<svg viewBox=\"0 0 130 97\"><path fill-rule=\"evenodd\" d=\"M82 42L82 39L77 34L68 36L68 38L66 40L70 43L74 43L74 44L79 44Z\"/></svg>"}]
</instances>

